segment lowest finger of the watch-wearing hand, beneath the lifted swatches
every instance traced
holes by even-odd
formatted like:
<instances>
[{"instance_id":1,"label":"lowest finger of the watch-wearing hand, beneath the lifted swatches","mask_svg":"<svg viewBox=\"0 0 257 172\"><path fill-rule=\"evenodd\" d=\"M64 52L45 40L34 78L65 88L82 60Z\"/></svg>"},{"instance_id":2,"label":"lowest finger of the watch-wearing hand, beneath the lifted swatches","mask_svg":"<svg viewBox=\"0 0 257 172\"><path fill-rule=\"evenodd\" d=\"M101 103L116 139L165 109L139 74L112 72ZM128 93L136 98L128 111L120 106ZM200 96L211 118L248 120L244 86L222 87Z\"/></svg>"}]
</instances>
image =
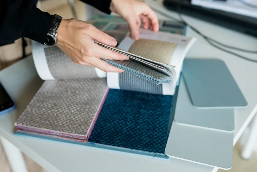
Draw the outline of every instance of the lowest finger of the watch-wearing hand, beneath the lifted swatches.
<instances>
[{"instance_id":1,"label":"lowest finger of the watch-wearing hand, beneath the lifted swatches","mask_svg":"<svg viewBox=\"0 0 257 172\"><path fill-rule=\"evenodd\" d=\"M105 62L104 60L101 60L98 57L88 57L90 58L90 63L95 66L96 68L104 71L104 72L124 72L124 70L116 68L109 63Z\"/></svg>"}]
</instances>

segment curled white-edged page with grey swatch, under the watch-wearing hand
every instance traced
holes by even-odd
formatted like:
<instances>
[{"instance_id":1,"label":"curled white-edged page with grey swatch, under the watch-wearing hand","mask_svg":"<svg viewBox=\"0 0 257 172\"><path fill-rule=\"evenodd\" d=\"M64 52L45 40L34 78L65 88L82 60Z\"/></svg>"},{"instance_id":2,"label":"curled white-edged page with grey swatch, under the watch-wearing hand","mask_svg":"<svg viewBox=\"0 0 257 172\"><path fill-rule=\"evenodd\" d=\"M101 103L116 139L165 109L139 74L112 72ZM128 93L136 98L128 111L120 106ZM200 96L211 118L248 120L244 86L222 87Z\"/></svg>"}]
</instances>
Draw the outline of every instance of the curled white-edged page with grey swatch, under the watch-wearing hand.
<instances>
[{"instance_id":1,"label":"curled white-edged page with grey swatch, under the watch-wearing hand","mask_svg":"<svg viewBox=\"0 0 257 172\"><path fill-rule=\"evenodd\" d=\"M98 68L75 64L57 46L47 47L34 41L32 46L34 63L43 80L106 77L106 72Z\"/></svg>"}]
</instances>

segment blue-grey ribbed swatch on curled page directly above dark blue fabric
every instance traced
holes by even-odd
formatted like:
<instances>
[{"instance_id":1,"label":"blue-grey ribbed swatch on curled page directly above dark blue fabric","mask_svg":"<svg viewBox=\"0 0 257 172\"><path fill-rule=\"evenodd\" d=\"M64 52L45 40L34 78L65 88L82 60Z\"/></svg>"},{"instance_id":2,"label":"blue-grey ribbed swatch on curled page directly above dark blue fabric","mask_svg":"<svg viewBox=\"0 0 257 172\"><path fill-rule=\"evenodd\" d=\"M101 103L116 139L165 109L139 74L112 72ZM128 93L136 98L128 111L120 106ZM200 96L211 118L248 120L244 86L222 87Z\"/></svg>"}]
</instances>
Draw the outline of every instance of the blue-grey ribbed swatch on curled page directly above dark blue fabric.
<instances>
[{"instance_id":1,"label":"blue-grey ribbed swatch on curled page directly above dark blue fabric","mask_svg":"<svg viewBox=\"0 0 257 172\"><path fill-rule=\"evenodd\" d=\"M157 85L126 71L119 73L119 88L121 90L163 94L162 84Z\"/></svg>"}]
</instances>

